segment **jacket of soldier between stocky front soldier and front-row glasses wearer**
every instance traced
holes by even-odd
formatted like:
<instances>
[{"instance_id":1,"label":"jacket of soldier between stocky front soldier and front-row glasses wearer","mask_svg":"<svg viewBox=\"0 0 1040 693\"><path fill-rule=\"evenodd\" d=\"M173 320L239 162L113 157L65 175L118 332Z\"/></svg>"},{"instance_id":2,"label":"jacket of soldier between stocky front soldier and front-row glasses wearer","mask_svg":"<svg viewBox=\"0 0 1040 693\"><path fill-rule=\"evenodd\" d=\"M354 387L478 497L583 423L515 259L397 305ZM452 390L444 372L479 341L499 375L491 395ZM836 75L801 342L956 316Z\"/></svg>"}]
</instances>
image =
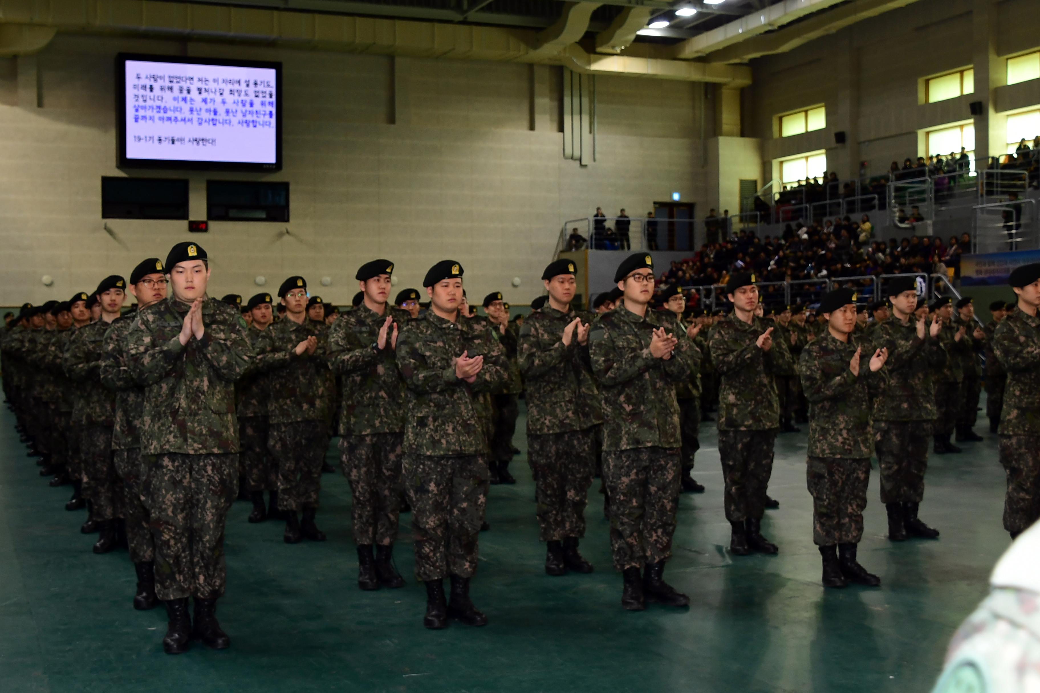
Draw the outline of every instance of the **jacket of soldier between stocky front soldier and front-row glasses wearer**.
<instances>
[{"instance_id":1,"label":"jacket of soldier between stocky front soldier and front-row glasses wearer","mask_svg":"<svg viewBox=\"0 0 1040 693\"><path fill-rule=\"evenodd\" d=\"M527 316L520 329L528 435L580 431L603 423L589 345L578 344L576 330L570 346L563 343L564 328L575 317L574 311L561 313L546 305Z\"/></svg>"}]
</instances>

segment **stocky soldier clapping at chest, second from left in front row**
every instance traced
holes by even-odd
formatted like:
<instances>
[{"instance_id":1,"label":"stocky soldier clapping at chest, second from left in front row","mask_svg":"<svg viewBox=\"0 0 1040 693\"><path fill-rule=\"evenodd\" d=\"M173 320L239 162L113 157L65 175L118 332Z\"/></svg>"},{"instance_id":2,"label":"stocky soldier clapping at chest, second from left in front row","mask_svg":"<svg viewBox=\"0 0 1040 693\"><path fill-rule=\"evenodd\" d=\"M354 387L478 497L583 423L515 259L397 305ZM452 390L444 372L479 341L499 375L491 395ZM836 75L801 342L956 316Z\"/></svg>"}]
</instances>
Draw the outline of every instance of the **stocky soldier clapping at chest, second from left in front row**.
<instances>
[{"instance_id":1,"label":"stocky soldier clapping at chest, second from left in front row","mask_svg":"<svg viewBox=\"0 0 1040 693\"><path fill-rule=\"evenodd\" d=\"M502 384L509 364L490 329L460 322L463 271L444 260L426 272L430 311L409 321L397 338L397 366L407 385L402 474L412 506L415 576L426 585L423 624L430 629L444 628L448 618L488 622L469 596L489 487L490 450L476 399Z\"/></svg>"}]
</instances>

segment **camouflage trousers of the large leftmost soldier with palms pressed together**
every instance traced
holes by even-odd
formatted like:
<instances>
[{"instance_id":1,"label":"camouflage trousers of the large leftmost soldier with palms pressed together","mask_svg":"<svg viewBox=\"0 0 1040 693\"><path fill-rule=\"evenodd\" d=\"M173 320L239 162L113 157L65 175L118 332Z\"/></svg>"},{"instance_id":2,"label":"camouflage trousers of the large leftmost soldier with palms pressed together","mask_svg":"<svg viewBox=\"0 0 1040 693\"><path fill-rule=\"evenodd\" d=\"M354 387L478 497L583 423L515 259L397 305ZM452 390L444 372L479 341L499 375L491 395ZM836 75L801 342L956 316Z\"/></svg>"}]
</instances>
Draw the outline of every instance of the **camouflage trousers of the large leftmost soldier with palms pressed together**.
<instances>
[{"instance_id":1,"label":"camouflage trousers of the large leftmost soldier with palms pressed together","mask_svg":"<svg viewBox=\"0 0 1040 693\"><path fill-rule=\"evenodd\" d=\"M141 469L155 593L164 602L223 595L224 526L238 487L238 455L147 455Z\"/></svg>"}]
</instances>

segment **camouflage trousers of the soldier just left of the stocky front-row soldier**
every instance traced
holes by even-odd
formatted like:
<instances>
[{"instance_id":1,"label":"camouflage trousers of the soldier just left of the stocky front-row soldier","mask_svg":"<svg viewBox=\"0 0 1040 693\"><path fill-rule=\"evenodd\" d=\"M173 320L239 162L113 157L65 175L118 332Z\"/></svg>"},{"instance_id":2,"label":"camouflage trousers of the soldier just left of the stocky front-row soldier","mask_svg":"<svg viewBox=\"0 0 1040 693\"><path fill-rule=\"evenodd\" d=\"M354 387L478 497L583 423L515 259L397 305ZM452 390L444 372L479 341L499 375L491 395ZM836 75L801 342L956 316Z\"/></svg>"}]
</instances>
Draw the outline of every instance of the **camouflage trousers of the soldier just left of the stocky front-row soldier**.
<instances>
[{"instance_id":1,"label":"camouflage trousers of the soldier just left of the stocky front-row soldier","mask_svg":"<svg viewBox=\"0 0 1040 693\"><path fill-rule=\"evenodd\" d=\"M343 476L350 483L354 540L388 547L397 540L404 433L344 435L339 439Z\"/></svg>"}]
</instances>

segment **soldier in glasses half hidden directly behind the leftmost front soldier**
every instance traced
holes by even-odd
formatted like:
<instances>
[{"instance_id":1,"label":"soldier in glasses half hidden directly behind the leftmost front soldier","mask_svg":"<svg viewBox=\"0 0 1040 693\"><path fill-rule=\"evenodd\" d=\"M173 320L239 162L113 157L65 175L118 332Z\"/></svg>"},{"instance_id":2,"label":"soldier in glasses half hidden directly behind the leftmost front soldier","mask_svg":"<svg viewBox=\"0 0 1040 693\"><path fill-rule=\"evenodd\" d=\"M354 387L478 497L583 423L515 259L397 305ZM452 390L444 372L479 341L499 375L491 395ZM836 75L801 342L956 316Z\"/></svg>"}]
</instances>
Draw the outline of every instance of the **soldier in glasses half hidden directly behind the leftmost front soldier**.
<instances>
[{"instance_id":1,"label":"soldier in glasses half hidden directly behind the leftmost front soldier","mask_svg":"<svg viewBox=\"0 0 1040 693\"><path fill-rule=\"evenodd\" d=\"M149 258L130 273L130 293L137 299L137 311L158 303L166 297L166 275L162 261ZM137 591L133 608L154 609L155 543L149 527L141 486L140 421L145 411L145 390L127 366L127 336L137 322L134 313L112 321L105 332L99 368L101 383L115 393L115 414L112 426L112 457L115 474L122 481L121 506L126 517L127 545L130 560L137 574Z\"/></svg>"}]
</instances>

